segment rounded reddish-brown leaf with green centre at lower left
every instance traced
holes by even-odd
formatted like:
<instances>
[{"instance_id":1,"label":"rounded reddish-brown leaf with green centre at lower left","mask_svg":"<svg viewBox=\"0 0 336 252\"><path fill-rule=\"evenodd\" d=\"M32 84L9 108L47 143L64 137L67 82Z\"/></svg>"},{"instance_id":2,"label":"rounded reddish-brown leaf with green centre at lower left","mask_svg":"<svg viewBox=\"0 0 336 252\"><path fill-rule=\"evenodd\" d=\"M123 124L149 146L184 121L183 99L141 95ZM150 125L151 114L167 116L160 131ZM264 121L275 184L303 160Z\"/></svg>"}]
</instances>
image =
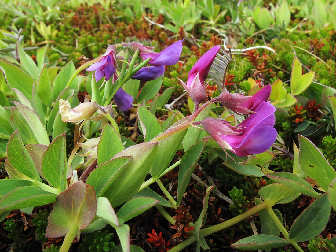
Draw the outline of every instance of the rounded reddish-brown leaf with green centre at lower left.
<instances>
[{"instance_id":1,"label":"rounded reddish-brown leaf with green centre at lower left","mask_svg":"<svg viewBox=\"0 0 336 252\"><path fill-rule=\"evenodd\" d=\"M96 214L96 193L90 185L83 181L71 185L58 194L52 213L48 218L46 237L64 236L69 229L80 230L89 226Z\"/></svg>"}]
</instances>

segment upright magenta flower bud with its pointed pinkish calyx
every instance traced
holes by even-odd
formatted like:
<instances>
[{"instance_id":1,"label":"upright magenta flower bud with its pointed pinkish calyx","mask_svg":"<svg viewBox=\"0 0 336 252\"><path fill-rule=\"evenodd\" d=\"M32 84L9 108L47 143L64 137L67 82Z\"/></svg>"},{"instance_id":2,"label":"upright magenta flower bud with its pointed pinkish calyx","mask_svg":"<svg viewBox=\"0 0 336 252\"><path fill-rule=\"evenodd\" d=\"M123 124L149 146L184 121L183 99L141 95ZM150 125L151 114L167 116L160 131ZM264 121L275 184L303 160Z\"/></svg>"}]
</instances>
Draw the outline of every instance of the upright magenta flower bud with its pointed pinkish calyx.
<instances>
[{"instance_id":1,"label":"upright magenta flower bud with its pointed pinkish calyx","mask_svg":"<svg viewBox=\"0 0 336 252\"><path fill-rule=\"evenodd\" d=\"M220 46L218 45L212 47L196 62L188 74L187 83L184 83L179 79L185 91L187 91L190 97L193 99L195 103L195 109L198 108L200 103L205 101L205 88L208 83L204 84L204 81L208 76L210 67L215 60L219 49Z\"/></svg>"}]
</instances>

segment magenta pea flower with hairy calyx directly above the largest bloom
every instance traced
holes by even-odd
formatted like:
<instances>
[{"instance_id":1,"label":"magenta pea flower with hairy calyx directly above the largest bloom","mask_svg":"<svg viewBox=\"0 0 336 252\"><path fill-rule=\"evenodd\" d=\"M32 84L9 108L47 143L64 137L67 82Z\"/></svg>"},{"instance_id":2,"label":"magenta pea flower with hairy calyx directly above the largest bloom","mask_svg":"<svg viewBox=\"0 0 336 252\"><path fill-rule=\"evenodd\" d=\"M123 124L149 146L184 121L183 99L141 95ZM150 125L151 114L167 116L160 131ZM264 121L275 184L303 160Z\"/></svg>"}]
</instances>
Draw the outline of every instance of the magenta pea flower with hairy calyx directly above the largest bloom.
<instances>
[{"instance_id":1,"label":"magenta pea flower with hairy calyx directly above the largest bloom","mask_svg":"<svg viewBox=\"0 0 336 252\"><path fill-rule=\"evenodd\" d=\"M251 114L263 102L267 102L271 94L271 85L268 84L260 89L253 96L244 96L243 94L232 94L222 92L213 102L219 102L224 107L234 111L237 114Z\"/></svg>"}]
</instances>

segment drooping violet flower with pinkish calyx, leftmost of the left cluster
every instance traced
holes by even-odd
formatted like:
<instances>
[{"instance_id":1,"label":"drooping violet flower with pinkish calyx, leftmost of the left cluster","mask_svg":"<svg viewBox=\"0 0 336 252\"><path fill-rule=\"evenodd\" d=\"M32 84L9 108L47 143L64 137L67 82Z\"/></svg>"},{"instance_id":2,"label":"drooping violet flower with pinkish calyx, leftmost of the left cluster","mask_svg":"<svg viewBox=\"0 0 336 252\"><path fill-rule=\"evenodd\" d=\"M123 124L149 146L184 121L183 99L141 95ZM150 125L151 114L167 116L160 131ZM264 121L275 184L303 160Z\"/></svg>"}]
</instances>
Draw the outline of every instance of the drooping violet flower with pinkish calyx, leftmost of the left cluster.
<instances>
[{"instance_id":1,"label":"drooping violet flower with pinkish calyx, leftmost of the left cluster","mask_svg":"<svg viewBox=\"0 0 336 252\"><path fill-rule=\"evenodd\" d=\"M104 76L109 80L116 72L116 53L117 47L110 45L100 61L93 63L86 71L95 71L94 77L97 82Z\"/></svg>"}]
</instances>

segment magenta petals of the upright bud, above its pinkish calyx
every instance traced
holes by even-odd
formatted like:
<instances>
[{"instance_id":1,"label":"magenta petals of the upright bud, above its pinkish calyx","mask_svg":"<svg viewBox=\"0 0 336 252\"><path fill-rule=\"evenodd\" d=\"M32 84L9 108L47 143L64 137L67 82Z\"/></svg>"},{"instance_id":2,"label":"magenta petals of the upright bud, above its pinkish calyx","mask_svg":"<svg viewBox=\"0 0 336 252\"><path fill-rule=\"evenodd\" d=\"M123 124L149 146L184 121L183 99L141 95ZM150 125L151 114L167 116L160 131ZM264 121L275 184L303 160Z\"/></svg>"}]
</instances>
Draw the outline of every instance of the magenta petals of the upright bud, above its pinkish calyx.
<instances>
[{"instance_id":1,"label":"magenta petals of the upright bud, above its pinkish calyx","mask_svg":"<svg viewBox=\"0 0 336 252\"><path fill-rule=\"evenodd\" d=\"M188 74L187 86L190 87L192 81L199 72L201 83L203 84L206 77L208 76L210 67L220 49L219 45L215 45L210 50L208 50L192 67Z\"/></svg>"}]
</instances>

